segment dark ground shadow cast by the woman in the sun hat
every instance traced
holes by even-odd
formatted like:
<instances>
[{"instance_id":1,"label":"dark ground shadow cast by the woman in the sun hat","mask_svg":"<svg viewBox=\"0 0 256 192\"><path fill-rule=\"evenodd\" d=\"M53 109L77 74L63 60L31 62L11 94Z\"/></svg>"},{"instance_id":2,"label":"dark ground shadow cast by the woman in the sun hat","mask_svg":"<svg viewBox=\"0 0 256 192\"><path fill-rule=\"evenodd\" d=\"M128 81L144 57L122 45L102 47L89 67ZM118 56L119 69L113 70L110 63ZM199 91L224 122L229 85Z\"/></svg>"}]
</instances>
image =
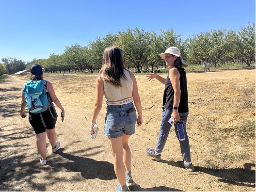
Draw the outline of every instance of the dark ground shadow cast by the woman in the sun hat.
<instances>
[{"instance_id":1,"label":"dark ground shadow cast by the woman in the sun hat","mask_svg":"<svg viewBox=\"0 0 256 192\"><path fill-rule=\"evenodd\" d=\"M179 167L175 161L161 160L162 163L167 163L175 167ZM254 170L252 169L254 167ZM181 167L180 167L181 168ZM244 187L255 187L255 164L244 163L244 168L234 169L210 169L200 166L194 166L195 171L191 175L206 173L212 176L220 177L220 182L229 183L232 185L239 185ZM181 168L183 169L183 168ZM251 183L251 184L248 184Z\"/></svg>"}]
</instances>

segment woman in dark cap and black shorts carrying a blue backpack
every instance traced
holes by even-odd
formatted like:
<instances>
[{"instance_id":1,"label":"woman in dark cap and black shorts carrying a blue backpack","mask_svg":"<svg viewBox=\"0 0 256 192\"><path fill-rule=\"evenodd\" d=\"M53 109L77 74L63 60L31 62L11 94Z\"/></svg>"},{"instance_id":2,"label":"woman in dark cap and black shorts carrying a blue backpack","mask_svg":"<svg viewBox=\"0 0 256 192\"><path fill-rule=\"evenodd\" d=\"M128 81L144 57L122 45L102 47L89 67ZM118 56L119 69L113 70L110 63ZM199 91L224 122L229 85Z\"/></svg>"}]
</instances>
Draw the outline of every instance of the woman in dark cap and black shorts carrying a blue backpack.
<instances>
[{"instance_id":1,"label":"woman in dark cap and black shorts carrying a blue backpack","mask_svg":"<svg viewBox=\"0 0 256 192\"><path fill-rule=\"evenodd\" d=\"M43 68L39 64L33 64L31 67L32 76L30 81L27 81L22 88L22 100L20 116L25 118L26 105L29 111L29 122L36 134L36 146L41 154L40 163L46 165L46 136L52 147L52 152L55 153L60 142L57 141L55 132L55 124L57 121L57 113L52 104L60 108L62 121L64 120L64 108L55 95L52 84L43 79Z\"/></svg>"}]
</instances>

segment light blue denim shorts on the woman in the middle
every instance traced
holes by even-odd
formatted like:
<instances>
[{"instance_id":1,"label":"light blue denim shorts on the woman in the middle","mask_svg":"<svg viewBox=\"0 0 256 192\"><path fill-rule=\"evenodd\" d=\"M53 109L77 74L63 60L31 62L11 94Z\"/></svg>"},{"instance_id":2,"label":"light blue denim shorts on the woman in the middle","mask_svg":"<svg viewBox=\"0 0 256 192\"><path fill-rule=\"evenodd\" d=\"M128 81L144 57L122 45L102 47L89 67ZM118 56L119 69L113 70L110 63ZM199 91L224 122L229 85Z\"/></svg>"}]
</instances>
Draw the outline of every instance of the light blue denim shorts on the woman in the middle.
<instances>
[{"instance_id":1,"label":"light blue denim shorts on the woman in the middle","mask_svg":"<svg viewBox=\"0 0 256 192\"><path fill-rule=\"evenodd\" d=\"M132 112L128 113L129 110ZM136 122L137 115L132 102L124 105L108 105L104 133L109 138L121 137L123 134L132 135L135 133Z\"/></svg>"}]
</instances>

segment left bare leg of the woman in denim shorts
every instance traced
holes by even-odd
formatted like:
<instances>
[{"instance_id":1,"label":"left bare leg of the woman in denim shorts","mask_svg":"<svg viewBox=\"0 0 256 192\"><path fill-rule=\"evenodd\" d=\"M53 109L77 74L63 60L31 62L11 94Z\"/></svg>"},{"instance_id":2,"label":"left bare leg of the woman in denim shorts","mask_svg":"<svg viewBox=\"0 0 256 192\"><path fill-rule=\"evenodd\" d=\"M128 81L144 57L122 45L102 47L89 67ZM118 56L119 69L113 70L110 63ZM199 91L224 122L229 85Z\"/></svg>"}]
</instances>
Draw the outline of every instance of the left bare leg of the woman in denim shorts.
<instances>
[{"instance_id":1,"label":"left bare leg of the woman in denim shorts","mask_svg":"<svg viewBox=\"0 0 256 192\"><path fill-rule=\"evenodd\" d=\"M114 171L121 186L126 184L122 139L123 136L118 138L109 138L113 154Z\"/></svg>"}]
</instances>

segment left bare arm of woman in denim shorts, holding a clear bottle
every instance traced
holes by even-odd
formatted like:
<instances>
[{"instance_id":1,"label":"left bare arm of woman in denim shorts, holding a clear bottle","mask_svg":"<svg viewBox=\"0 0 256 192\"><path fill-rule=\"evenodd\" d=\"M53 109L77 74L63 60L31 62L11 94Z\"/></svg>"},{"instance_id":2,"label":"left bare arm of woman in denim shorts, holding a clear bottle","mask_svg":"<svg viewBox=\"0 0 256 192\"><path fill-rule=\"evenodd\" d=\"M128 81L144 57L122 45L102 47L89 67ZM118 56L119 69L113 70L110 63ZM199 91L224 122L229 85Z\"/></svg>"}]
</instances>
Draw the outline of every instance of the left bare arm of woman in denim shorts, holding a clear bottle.
<instances>
[{"instance_id":1,"label":"left bare arm of woman in denim shorts, holding a clear bottle","mask_svg":"<svg viewBox=\"0 0 256 192\"><path fill-rule=\"evenodd\" d=\"M104 96L104 83L102 76L96 79L96 100L94 104L93 119L91 124L91 134L94 133L93 126L96 124L96 119L102 107L102 100Z\"/></svg>"}]
</instances>

